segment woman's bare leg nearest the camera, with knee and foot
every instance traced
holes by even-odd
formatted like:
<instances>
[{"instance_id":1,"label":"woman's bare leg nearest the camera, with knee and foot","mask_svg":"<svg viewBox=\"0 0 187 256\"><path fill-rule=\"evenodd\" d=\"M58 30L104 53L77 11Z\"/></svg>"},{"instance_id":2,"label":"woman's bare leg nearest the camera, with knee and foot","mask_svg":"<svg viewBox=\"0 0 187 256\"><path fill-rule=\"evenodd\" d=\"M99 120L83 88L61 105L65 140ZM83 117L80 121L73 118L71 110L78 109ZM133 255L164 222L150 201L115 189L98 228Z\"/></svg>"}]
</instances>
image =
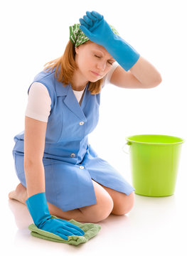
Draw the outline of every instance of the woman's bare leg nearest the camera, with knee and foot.
<instances>
[{"instance_id":1,"label":"woman's bare leg nearest the camera, with knee and foot","mask_svg":"<svg viewBox=\"0 0 187 256\"><path fill-rule=\"evenodd\" d=\"M67 220L71 220L73 218L74 220L80 222L82 221L92 223L97 223L107 218L109 214L112 212L112 198L109 196L107 191L105 191L105 189L102 188L102 186L100 186L95 181L92 182L95 189L95 196L97 199L96 204L74 210L63 211L60 208L54 206L53 204L48 203L50 214L55 215L59 218L65 218ZM9 193L9 198L15 199L21 203L26 204L25 201L28 198L26 188L21 183L19 183L16 187L16 190L11 191Z\"/></svg>"}]
</instances>

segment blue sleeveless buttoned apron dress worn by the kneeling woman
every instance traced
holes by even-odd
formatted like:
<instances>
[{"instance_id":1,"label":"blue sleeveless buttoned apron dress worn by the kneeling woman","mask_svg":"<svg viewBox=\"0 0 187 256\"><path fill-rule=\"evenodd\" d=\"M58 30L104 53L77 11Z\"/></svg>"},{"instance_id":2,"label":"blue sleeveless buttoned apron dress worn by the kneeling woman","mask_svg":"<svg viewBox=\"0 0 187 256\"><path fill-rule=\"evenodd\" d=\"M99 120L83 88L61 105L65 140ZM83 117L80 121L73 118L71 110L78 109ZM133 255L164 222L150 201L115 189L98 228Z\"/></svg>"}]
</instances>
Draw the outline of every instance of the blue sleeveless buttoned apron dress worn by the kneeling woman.
<instances>
[{"instance_id":1,"label":"blue sleeveless buttoned apron dress worn by the kneeling woman","mask_svg":"<svg viewBox=\"0 0 187 256\"><path fill-rule=\"evenodd\" d=\"M51 99L43 153L47 201L64 211L91 206L97 203L92 179L129 195L134 188L88 142L99 119L100 94L91 95L88 82L80 105L71 85L58 82L54 72L42 71L33 80L46 86ZM16 174L26 187L24 131L14 142Z\"/></svg>"}]
</instances>

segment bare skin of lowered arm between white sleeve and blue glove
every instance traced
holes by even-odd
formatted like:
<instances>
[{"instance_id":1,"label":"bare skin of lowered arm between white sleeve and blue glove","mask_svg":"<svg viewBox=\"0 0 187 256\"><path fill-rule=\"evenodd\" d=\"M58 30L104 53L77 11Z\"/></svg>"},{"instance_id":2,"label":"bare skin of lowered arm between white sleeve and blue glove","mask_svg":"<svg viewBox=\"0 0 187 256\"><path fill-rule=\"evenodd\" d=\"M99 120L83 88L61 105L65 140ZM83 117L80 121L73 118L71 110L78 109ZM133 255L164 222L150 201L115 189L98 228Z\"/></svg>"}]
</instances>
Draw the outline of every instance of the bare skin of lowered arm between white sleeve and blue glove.
<instances>
[{"instance_id":1,"label":"bare skin of lowered arm between white sleeve and blue glove","mask_svg":"<svg viewBox=\"0 0 187 256\"><path fill-rule=\"evenodd\" d=\"M43 151L46 138L46 122L25 118L24 169L28 197L45 192Z\"/></svg>"}]
</instances>

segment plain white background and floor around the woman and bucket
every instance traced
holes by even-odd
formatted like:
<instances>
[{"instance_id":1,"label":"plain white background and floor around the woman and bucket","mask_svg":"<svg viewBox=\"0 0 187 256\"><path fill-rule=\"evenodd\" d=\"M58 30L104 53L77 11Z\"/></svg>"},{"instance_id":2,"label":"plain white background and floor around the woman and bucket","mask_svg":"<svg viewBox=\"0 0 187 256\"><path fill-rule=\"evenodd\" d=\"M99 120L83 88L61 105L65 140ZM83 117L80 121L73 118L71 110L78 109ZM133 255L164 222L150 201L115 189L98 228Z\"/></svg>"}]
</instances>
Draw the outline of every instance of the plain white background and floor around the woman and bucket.
<instances>
[{"instance_id":1,"label":"plain white background and floor around the woman and bucket","mask_svg":"<svg viewBox=\"0 0 187 256\"><path fill-rule=\"evenodd\" d=\"M186 1L1 1L1 241L5 250L20 255L112 255L117 249L120 255L164 255L180 248L185 255L186 143L173 196L136 195L131 213L109 216L100 223L100 234L81 247L31 238L26 206L7 197L18 183L11 151L14 136L24 129L28 86L46 62L63 55L69 26L92 10L104 15L162 76L158 87L147 90L106 85L100 122L90 134L94 149L131 182L129 155L122 151L125 137L167 134L186 139Z\"/></svg>"}]
</instances>

